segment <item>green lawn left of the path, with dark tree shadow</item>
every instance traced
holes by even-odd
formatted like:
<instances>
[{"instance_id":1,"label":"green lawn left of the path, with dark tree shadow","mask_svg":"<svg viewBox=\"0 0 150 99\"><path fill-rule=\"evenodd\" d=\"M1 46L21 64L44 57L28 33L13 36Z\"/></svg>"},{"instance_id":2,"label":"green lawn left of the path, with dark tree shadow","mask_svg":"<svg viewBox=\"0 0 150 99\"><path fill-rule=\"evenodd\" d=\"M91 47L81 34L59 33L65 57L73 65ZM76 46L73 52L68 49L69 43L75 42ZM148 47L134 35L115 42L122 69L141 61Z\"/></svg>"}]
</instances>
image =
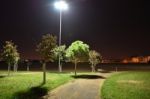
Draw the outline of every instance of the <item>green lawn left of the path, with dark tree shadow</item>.
<instances>
[{"instance_id":1,"label":"green lawn left of the path, with dark tree shadow","mask_svg":"<svg viewBox=\"0 0 150 99\"><path fill-rule=\"evenodd\" d=\"M47 73L42 83L42 72L11 73L0 71L0 99L38 99L48 91L73 79L69 73Z\"/></svg>"}]
</instances>

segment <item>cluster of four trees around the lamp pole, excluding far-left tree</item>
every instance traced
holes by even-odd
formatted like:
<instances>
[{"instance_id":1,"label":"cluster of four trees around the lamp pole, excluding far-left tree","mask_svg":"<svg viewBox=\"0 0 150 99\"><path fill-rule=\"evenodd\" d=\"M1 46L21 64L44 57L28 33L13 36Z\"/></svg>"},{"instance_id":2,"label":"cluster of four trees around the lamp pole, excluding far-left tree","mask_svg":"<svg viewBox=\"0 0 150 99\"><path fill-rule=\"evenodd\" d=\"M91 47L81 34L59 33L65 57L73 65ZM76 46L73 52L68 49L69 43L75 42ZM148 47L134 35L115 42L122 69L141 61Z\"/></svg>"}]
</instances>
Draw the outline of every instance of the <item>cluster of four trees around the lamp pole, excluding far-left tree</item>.
<instances>
[{"instance_id":1,"label":"cluster of four trees around the lamp pole, excluding far-left tree","mask_svg":"<svg viewBox=\"0 0 150 99\"><path fill-rule=\"evenodd\" d=\"M37 46L37 52L42 57L43 60L43 83L46 82L46 63L54 60L58 60L60 57L61 67L59 71L62 70L62 63L73 62L75 64L75 76L77 75L77 64L79 62L89 61L92 67L92 72L95 72L95 66L101 62L101 55L94 51L89 50L89 45L83 43L82 41L73 42L68 48L65 45L57 46L56 36L47 34L42 37L41 42Z\"/></svg>"}]
</instances>

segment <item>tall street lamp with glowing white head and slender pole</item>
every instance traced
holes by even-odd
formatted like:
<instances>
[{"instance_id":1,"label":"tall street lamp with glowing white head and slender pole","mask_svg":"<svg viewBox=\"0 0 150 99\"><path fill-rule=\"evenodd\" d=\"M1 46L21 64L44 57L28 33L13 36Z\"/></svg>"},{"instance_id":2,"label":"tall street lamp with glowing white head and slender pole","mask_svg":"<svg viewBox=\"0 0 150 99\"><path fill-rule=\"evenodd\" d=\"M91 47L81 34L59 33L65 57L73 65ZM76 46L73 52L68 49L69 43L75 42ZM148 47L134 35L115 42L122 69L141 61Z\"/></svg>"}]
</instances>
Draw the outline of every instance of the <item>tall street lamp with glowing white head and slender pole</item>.
<instances>
[{"instance_id":1,"label":"tall street lamp with glowing white head and slender pole","mask_svg":"<svg viewBox=\"0 0 150 99\"><path fill-rule=\"evenodd\" d=\"M61 26L62 26L62 11L68 9L68 4L64 0L59 0L54 3L56 9L59 10L60 15L60 27L59 27L59 46L61 45ZM60 55L59 55L59 71L62 71L61 63L60 63Z\"/></svg>"}]
</instances>

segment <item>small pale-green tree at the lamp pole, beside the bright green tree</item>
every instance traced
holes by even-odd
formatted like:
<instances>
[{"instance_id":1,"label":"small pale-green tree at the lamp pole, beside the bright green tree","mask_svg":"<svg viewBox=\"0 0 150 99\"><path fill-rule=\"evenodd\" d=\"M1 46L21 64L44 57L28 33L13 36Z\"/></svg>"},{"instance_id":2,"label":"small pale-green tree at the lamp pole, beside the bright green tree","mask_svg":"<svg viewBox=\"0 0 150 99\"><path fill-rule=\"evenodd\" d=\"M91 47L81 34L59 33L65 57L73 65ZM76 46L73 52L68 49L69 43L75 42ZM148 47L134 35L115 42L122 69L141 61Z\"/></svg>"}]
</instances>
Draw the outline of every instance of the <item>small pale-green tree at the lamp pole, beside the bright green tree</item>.
<instances>
[{"instance_id":1,"label":"small pale-green tree at the lamp pole, beside the bright green tree","mask_svg":"<svg viewBox=\"0 0 150 99\"><path fill-rule=\"evenodd\" d=\"M66 45L57 46L52 52L54 53L55 60L59 60L60 58L59 72L62 72L62 63L65 61Z\"/></svg>"}]
</instances>

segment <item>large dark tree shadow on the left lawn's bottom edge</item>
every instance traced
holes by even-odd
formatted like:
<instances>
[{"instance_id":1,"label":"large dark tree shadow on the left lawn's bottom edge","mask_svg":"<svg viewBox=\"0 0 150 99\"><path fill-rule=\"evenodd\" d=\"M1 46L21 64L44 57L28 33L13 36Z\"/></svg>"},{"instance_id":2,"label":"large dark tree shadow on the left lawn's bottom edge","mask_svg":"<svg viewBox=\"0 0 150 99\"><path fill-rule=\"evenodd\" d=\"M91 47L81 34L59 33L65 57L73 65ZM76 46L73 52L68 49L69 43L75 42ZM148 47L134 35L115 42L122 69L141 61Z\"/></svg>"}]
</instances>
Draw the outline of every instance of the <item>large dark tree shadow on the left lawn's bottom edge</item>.
<instances>
[{"instance_id":1,"label":"large dark tree shadow on the left lawn's bottom edge","mask_svg":"<svg viewBox=\"0 0 150 99\"><path fill-rule=\"evenodd\" d=\"M14 94L14 99L40 99L42 96L46 95L48 89L40 86L32 87L27 91L17 92Z\"/></svg>"}]
</instances>

